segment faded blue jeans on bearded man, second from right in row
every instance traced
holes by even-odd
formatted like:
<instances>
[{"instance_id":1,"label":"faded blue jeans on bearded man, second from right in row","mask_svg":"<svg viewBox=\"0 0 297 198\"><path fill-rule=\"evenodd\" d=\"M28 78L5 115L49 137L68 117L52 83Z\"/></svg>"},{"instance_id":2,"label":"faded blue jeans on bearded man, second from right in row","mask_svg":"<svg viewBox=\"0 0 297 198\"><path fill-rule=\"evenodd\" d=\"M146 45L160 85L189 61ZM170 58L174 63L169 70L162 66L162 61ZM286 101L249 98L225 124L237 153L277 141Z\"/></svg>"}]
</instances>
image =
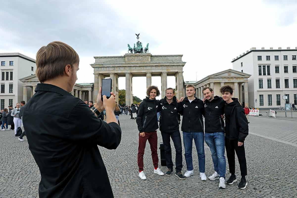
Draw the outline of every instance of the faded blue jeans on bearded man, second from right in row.
<instances>
[{"instance_id":1,"label":"faded blue jeans on bearded man, second from right in row","mask_svg":"<svg viewBox=\"0 0 297 198\"><path fill-rule=\"evenodd\" d=\"M226 158L225 158L225 133L214 132L205 133L205 142L210 148L212 161L214 162L214 170L225 178L226 174Z\"/></svg>"}]
</instances>

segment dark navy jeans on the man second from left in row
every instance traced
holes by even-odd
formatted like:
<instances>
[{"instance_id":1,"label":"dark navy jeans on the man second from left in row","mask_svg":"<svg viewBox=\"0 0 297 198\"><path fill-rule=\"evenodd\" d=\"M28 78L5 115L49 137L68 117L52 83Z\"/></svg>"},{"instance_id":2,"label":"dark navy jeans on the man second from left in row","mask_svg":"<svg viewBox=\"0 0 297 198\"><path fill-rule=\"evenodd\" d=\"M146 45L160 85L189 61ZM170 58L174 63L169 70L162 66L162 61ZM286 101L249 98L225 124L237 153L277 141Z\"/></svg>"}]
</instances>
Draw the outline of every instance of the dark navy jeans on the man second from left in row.
<instances>
[{"instance_id":1,"label":"dark navy jeans on the man second from left in row","mask_svg":"<svg viewBox=\"0 0 297 198\"><path fill-rule=\"evenodd\" d=\"M176 172L180 172L183 168L183 156L181 149L181 134L179 131L170 132L170 133L162 133L163 144L165 148L165 159L166 165L168 168L173 170L173 162L172 162L172 154L171 154L171 145L170 145L170 137L173 141L175 148L175 170Z\"/></svg>"}]
</instances>

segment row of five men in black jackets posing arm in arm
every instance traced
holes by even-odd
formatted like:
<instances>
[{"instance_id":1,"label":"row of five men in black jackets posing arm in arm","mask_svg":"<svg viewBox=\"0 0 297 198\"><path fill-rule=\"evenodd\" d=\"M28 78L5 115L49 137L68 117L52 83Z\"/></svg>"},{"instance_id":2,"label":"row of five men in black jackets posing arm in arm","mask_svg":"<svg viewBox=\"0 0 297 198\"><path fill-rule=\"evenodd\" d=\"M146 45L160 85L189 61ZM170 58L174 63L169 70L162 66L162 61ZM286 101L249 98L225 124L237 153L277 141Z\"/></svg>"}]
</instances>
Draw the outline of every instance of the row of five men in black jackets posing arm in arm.
<instances>
[{"instance_id":1,"label":"row of five men in black jackets posing arm in arm","mask_svg":"<svg viewBox=\"0 0 297 198\"><path fill-rule=\"evenodd\" d=\"M208 177L209 180L219 179L219 188L226 188L227 184L237 181L235 175L235 153L238 157L241 180L239 189L245 189L247 181L247 163L245 158L244 140L248 135L248 121L238 99L232 98L233 88L229 85L220 89L222 97L214 96L212 88L203 88L204 99L195 97L195 87L187 85L187 97L177 99L174 96L173 88L166 89L166 96L161 100L155 97L160 95L157 86L150 86L147 89L147 96L140 103L136 123L139 131L138 142L138 168L139 177L143 180L146 175L143 172L143 154L146 140L151 147L151 156L154 164L154 173L164 175L158 168L157 154L157 129L160 129L163 144L165 147L166 166L168 168L165 175L170 176L173 172L173 161L170 146L170 137L176 151L175 175L184 180L186 177L194 175L192 162L192 143L194 140L198 154L198 164L200 178L206 181L205 174L205 152L204 140L211 151L214 163L214 174ZM160 112L159 126L156 119L157 112ZM183 132L183 142L187 171L182 174L182 146L181 135L178 125L178 114L183 116L181 130ZM205 122L203 123L203 116ZM224 123L224 119L226 123ZM204 130L205 126L205 130ZM205 132L205 133L204 133ZM230 178L225 181L226 159L225 148L229 164Z\"/></svg>"}]
</instances>

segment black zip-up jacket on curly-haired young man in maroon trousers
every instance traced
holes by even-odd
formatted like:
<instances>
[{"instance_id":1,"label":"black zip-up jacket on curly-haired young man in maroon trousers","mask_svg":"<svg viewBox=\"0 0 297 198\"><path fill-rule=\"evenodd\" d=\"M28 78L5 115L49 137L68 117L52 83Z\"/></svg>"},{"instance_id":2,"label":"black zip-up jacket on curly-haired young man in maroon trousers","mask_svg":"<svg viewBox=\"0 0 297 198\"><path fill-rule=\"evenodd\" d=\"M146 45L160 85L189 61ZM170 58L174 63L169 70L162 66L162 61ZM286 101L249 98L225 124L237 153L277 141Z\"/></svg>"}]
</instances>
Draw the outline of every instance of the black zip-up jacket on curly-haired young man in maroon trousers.
<instances>
[{"instance_id":1,"label":"black zip-up jacket on curly-haired young man in maroon trousers","mask_svg":"<svg viewBox=\"0 0 297 198\"><path fill-rule=\"evenodd\" d=\"M146 97L140 103L136 117L139 133L154 132L159 128L157 121L158 102L156 99L151 100Z\"/></svg>"}]
</instances>

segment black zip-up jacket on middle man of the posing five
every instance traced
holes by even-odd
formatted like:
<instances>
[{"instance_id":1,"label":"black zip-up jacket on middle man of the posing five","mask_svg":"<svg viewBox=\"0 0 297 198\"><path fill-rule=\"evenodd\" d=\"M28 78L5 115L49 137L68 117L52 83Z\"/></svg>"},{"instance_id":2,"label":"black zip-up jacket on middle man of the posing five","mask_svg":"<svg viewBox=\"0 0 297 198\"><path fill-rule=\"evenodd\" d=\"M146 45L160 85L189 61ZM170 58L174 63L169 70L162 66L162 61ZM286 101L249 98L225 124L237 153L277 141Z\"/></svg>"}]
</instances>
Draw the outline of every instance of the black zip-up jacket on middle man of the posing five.
<instances>
[{"instance_id":1,"label":"black zip-up jacket on middle man of the posing five","mask_svg":"<svg viewBox=\"0 0 297 198\"><path fill-rule=\"evenodd\" d=\"M183 115L181 130L183 132L204 132L203 118L204 103L195 97L190 103L188 97L185 97L178 108L178 112Z\"/></svg>"}]
</instances>

